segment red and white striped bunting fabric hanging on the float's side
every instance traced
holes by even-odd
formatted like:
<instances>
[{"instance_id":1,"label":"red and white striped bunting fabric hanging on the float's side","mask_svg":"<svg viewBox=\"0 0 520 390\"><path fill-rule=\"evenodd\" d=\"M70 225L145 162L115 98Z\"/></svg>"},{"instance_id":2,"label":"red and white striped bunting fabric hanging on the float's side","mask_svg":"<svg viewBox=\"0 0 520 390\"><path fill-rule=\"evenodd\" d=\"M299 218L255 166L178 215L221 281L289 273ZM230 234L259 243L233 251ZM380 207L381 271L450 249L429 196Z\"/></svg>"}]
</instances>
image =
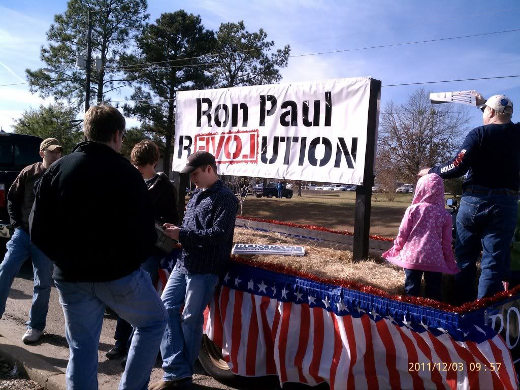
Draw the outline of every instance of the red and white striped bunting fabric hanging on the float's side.
<instances>
[{"instance_id":1,"label":"red and white striped bunting fabric hanging on the float's side","mask_svg":"<svg viewBox=\"0 0 520 390\"><path fill-rule=\"evenodd\" d=\"M413 330L406 318L298 300L223 285L210 304L205 333L222 347L233 373L278 375L280 383L327 382L332 390L517 388L499 335L480 343L455 341L443 330ZM336 313L327 310L330 305L337 305Z\"/></svg>"}]
</instances>

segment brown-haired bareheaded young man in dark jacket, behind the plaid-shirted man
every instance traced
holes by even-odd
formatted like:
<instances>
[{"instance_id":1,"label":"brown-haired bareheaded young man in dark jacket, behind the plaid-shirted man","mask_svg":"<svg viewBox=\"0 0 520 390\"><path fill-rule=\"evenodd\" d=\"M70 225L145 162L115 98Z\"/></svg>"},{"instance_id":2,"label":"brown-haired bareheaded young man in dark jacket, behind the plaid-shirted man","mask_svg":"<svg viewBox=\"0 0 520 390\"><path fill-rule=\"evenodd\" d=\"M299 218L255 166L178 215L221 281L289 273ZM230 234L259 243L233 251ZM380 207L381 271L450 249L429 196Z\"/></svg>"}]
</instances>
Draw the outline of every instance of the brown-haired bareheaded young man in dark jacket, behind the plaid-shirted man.
<instances>
[{"instance_id":1,"label":"brown-haired bareheaded young man in dark jacket, behind the plaid-shirted man","mask_svg":"<svg viewBox=\"0 0 520 390\"><path fill-rule=\"evenodd\" d=\"M153 214L155 223L177 225L179 214L177 211L177 198L175 187L164 173L155 172L155 166L159 162L159 148L149 139L138 142L132 149L130 161L137 168L142 178L145 180L148 193L152 200ZM155 248L153 253L146 259L141 267L150 274L153 285L157 284L159 278L159 264L166 255L159 248ZM107 352L109 359L115 359L126 355L131 339L132 325L118 317L115 326L114 339L115 345ZM125 360L123 360L125 363Z\"/></svg>"}]
</instances>

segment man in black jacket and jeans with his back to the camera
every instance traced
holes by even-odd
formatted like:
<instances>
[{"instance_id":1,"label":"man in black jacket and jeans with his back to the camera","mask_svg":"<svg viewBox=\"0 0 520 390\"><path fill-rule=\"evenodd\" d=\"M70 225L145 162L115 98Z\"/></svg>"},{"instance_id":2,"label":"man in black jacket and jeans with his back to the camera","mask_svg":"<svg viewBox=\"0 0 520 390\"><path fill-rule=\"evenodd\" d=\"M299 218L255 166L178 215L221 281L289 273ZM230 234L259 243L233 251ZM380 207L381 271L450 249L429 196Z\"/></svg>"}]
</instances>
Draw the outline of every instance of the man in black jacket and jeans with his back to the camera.
<instances>
[{"instance_id":1,"label":"man in black jacket and jeans with his back to the camera","mask_svg":"<svg viewBox=\"0 0 520 390\"><path fill-rule=\"evenodd\" d=\"M125 120L85 113L87 141L51 166L36 192L31 239L54 262L70 347L68 388L97 388L98 343L109 306L136 327L120 388L146 388L167 312L140 268L157 238L147 188L118 152Z\"/></svg>"}]
</instances>

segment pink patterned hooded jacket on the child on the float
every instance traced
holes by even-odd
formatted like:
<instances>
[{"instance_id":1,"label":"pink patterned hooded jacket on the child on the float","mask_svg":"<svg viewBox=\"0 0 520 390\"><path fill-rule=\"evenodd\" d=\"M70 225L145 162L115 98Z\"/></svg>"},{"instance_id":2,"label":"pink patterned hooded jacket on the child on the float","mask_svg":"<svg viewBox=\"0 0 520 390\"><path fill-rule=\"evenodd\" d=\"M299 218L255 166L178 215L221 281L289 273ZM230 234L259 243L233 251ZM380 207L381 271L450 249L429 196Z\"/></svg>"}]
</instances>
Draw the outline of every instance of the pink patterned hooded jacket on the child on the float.
<instances>
[{"instance_id":1,"label":"pink patterned hooded jacket on the child on the float","mask_svg":"<svg viewBox=\"0 0 520 390\"><path fill-rule=\"evenodd\" d=\"M383 257L403 268L457 274L460 269L451 249L451 224L451 215L444 210L443 179L427 174L417 182L394 246Z\"/></svg>"}]
</instances>

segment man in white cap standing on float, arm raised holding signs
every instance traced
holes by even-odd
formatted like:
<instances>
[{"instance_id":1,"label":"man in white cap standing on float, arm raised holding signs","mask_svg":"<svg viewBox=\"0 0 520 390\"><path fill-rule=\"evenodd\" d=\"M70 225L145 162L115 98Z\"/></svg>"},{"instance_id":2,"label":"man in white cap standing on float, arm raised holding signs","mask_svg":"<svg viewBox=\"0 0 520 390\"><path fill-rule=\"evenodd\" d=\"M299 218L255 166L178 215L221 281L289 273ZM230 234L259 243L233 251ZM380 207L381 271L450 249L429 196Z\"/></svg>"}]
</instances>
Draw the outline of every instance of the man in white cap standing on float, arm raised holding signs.
<instances>
[{"instance_id":1,"label":"man in white cap standing on float, arm raised holding signs","mask_svg":"<svg viewBox=\"0 0 520 390\"><path fill-rule=\"evenodd\" d=\"M424 168L443 179L461 177L463 196L457 215L456 275L461 303L503 291L510 273L510 243L516 224L520 186L520 124L512 123L513 102L504 95L488 100L476 94L484 126L474 128L449 163ZM482 274L475 294L476 262Z\"/></svg>"}]
</instances>

